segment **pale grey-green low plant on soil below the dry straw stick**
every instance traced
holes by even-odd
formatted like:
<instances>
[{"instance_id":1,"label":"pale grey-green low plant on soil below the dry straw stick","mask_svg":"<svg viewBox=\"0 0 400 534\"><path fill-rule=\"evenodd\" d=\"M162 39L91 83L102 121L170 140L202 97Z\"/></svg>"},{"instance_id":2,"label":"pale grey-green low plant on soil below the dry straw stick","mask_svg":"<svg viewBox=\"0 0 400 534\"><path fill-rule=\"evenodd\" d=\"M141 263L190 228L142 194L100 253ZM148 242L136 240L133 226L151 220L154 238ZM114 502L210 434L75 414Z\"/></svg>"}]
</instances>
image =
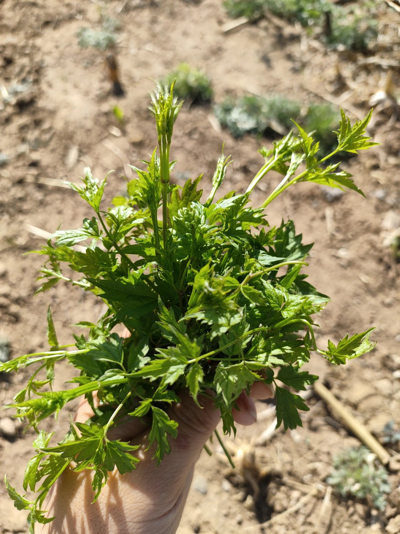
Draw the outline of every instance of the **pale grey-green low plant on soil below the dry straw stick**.
<instances>
[{"instance_id":1,"label":"pale grey-green low plant on soil below the dry straw stick","mask_svg":"<svg viewBox=\"0 0 400 534\"><path fill-rule=\"evenodd\" d=\"M372 499L374 505L385 509L390 483L386 469L378 466L369 449L350 447L333 459L333 470L327 478L342 497Z\"/></svg>"}]
</instances>

